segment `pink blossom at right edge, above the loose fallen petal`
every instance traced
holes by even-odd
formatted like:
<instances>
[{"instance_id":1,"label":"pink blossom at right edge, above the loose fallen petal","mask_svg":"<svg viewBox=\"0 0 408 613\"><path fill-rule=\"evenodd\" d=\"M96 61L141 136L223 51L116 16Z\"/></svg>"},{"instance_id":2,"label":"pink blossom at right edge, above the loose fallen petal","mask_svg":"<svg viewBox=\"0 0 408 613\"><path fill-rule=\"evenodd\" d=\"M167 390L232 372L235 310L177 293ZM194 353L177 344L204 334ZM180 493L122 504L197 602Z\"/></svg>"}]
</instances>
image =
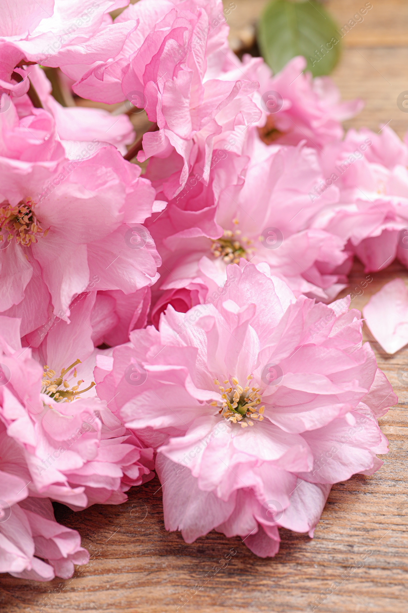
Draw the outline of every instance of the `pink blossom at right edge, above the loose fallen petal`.
<instances>
[{"instance_id":1,"label":"pink blossom at right edge, above the loose fallen petal","mask_svg":"<svg viewBox=\"0 0 408 613\"><path fill-rule=\"evenodd\" d=\"M313 227L347 242L346 251L365 265L365 272L387 267L398 257L408 264L407 147L385 126L380 135L368 130L347 133L321 156L325 181L310 193L320 199L328 185L339 189L339 200L322 209Z\"/></svg>"}]
</instances>

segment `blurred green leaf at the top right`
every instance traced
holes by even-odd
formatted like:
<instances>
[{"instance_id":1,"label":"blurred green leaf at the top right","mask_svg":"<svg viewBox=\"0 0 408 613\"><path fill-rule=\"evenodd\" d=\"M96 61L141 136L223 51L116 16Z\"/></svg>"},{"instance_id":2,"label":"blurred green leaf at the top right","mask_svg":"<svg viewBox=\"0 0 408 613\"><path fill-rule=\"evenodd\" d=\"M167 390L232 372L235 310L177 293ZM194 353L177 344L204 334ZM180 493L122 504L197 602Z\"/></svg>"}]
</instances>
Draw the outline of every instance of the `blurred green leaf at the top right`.
<instances>
[{"instance_id":1,"label":"blurred green leaf at the top right","mask_svg":"<svg viewBox=\"0 0 408 613\"><path fill-rule=\"evenodd\" d=\"M275 74L289 59L303 55L307 70L318 77L336 66L341 34L316 0L272 0L259 20L258 44Z\"/></svg>"}]
</instances>

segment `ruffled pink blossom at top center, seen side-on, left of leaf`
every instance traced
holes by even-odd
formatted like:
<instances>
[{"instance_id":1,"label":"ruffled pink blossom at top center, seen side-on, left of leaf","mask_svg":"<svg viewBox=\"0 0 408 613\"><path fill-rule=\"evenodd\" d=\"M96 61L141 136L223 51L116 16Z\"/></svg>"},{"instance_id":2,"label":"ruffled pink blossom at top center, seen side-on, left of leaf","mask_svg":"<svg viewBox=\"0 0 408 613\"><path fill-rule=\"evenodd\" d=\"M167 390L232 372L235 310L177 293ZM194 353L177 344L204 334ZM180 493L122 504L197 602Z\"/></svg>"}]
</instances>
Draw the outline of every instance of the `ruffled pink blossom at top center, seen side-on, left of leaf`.
<instances>
[{"instance_id":1,"label":"ruffled pink blossom at top center, seen side-on, left of leaf","mask_svg":"<svg viewBox=\"0 0 408 613\"><path fill-rule=\"evenodd\" d=\"M139 26L119 55L84 74L82 66L64 72L78 78L73 89L80 96L109 103L127 98L146 109L158 131L144 135L138 159L151 158L153 184L171 198L193 166L208 180L213 149L231 135L239 149L241 133L261 117L250 97L258 83L207 74L217 52L228 48L220 0L141 0L115 23L128 20Z\"/></svg>"}]
</instances>

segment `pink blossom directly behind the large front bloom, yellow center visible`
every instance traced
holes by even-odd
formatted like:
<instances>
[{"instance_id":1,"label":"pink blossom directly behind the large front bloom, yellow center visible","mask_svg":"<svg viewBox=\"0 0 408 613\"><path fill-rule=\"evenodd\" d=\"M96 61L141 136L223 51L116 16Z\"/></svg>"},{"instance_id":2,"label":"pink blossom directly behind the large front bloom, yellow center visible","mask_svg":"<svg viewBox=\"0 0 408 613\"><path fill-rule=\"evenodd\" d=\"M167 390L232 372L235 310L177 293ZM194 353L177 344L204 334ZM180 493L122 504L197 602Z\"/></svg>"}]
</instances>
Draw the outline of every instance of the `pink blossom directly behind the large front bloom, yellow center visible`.
<instances>
[{"instance_id":1,"label":"pink blossom directly behind the large front bloom, yellow center visible","mask_svg":"<svg viewBox=\"0 0 408 613\"><path fill-rule=\"evenodd\" d=\"M256 128L248 130L242 156L216 151L209 186L191 176L166 211L147 221L163 262L153 292L154 325L168 303L185 312L205 302L223 286L226 266L240 257L267 262L296 296L333 300L351 262L346 240L311 227L338 199L332 187L311 201L322 177L316 150L265 145Z\"/></svg>"}]
</instances>

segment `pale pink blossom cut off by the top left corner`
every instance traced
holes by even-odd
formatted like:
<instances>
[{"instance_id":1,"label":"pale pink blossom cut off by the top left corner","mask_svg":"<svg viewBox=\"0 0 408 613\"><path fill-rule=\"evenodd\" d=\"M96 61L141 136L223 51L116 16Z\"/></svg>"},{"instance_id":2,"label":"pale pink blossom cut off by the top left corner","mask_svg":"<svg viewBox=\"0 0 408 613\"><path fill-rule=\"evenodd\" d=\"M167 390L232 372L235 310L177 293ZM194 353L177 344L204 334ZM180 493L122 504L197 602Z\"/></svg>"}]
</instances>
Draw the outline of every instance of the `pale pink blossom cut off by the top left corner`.
<instances>
[{"instance_id":1,"label":"pale pink blossom cut off by the top left corner","mask_svg":"<svg viewBox=\"0 0 408 613\"><path fill-rule=\"evenodd\" d=\"M6 2L0 11L0 87L21 96L29 87L23 66L64 66L106 61L121 51L135 21L114 25L109 11L128 0L21 0ZM18 83L13 76L23 78ZM1 90L0 90L1 91Z\"/></svg>"}]
</instances>

